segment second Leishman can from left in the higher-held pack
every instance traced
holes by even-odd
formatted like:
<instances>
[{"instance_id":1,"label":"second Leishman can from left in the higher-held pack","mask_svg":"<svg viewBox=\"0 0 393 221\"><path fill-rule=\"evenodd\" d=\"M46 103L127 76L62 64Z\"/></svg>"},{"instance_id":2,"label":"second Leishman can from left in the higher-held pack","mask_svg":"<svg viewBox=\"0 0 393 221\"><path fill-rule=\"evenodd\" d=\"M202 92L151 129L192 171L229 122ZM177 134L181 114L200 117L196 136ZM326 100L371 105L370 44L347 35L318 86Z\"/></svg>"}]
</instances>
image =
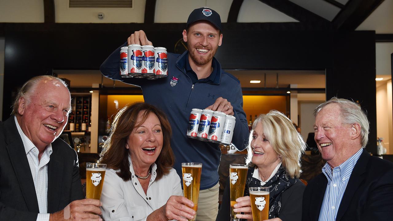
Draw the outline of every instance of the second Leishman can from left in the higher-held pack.
<instances>
[{"instance_id":1,"label":"second Leishman can from left in the higher-held pack","mask_svg":"<svg viewBox=\"0 0 393 221\"><path fill-rule=\"evenodd\" d=\"M130 44L128 46L127 73L129 76L142 75L142 48L139 44Z\"/></svg>"}]
</instances>

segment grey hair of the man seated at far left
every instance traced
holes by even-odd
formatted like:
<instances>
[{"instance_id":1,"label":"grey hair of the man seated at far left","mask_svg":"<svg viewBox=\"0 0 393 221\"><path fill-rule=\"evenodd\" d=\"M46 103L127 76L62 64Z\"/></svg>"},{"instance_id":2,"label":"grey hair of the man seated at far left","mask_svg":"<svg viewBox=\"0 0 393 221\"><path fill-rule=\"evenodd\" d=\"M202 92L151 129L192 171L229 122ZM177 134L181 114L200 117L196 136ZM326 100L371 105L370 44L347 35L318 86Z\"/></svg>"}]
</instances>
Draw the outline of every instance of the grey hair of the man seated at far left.
<instances>
[{"instance_id":1,"label":"grey hair of the man seated at far left","mask_svg":"<svg viewBox=\"0 0 393 221\"><path fill-rule=\"evenodd\" d=\"M22 88L20 88L20 90L18 91L18 94L17 94L17 96L14 100L14 103L12 105L12 113L11 114L15 114L15 115L18 114L18 107L19 107L19 99L20 98L25 98L26 104L29 104L31 102L31 99L30 99L31 94L33 94L33 92L35 91L35 88L38 85L38 83L40 83L44 79L49 79L52 81L59 81L60 83L62 83L62 85L64 85L64 87L66 87L66 88L68 87L67 83L58 77L53 77L53 76L49 76L49 75L41 75L41 76L32 77L31 79L26 81L26 83L24 83Z\"/></svg>"}]
</instances>

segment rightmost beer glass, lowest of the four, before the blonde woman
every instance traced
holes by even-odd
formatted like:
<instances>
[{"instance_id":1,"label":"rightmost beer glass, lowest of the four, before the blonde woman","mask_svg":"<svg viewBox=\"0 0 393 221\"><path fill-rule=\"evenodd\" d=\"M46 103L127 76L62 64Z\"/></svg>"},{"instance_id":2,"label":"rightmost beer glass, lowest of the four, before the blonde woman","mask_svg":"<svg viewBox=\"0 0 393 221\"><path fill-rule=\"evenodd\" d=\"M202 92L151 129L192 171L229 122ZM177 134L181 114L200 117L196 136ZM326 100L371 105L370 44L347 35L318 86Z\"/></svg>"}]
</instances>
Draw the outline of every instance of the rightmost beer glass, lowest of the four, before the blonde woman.
<instances>
[{"instance_id":1,"label":"rightmost beer glass, lowest of the four, before the blonde woman","mask_svg":"<svg viewBox=\"0 0 393 221\"><path fill-rule=\"evenodd\" d=\"M250 187L249 190L253 220L269 219L269 188Z\"/></svg>"}]
</instances>

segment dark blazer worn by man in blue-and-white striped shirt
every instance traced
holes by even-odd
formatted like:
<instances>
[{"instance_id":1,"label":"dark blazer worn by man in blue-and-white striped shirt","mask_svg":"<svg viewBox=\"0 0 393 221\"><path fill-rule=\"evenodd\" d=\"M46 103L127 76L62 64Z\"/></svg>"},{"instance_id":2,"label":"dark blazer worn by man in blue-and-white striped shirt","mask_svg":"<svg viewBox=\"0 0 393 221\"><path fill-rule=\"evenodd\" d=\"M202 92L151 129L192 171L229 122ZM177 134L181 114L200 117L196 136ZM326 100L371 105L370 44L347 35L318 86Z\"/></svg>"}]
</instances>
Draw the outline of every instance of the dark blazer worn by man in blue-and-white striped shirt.
<instances>
[{"instance_id":1,"label":"dark blazer worn by man in blue-and-white striped shirt","mask_svg":"<svg viewBox=\"0 0 393 221\"><path fill-rule=\"evenodd\" d=\"M303 195L303 221L318 221L327 178L310 180ZM363 150L353 168L336 221L391 220L393 217L393 163Z\"/></svg>"}]
</instances>

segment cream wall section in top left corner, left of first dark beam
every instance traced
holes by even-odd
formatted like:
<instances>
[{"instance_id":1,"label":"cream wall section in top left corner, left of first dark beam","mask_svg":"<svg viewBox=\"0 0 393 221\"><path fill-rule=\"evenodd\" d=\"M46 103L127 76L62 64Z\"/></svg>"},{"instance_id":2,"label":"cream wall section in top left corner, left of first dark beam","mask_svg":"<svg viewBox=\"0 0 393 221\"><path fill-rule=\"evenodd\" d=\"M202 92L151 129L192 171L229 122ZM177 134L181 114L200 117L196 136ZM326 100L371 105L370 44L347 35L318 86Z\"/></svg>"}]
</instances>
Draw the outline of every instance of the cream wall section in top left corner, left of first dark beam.
<instances>
[{"instance_id":1,"label":"cream wall section in top left corner, left of first dark beam","mask_svg":"<svg viewBox=\"0 0 393 221\"><path fill-rule=\"evenodd\" d=\"M0 22L44 22L44 1L0 0Z\"/></svg>"}]
</instances>

